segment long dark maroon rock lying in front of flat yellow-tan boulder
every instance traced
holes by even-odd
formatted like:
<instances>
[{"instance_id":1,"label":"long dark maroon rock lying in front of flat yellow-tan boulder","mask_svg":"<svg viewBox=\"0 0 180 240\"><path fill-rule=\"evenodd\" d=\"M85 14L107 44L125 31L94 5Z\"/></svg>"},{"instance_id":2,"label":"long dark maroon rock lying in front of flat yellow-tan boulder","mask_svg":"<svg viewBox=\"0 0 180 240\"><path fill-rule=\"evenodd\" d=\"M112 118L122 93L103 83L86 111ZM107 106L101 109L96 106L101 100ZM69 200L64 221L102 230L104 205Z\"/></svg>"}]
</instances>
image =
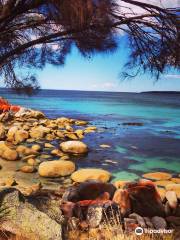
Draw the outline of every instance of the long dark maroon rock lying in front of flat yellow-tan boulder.
<instances>
[{"instance_id":1,"label":"long dark maroon rock lying in front of flat yellow-tan boulder","mask_svg":"<svg viewBox=\"0 0 180 240\"><path fill-rule=\"evenodd\" d=\"M82 200L94 200L109 194L112 199L116 188L110 183L102 183L99 181L87 181L79 185L75 185L67 189L63 199L65 201L78 202Z\"/></svg>"}]
</instances>

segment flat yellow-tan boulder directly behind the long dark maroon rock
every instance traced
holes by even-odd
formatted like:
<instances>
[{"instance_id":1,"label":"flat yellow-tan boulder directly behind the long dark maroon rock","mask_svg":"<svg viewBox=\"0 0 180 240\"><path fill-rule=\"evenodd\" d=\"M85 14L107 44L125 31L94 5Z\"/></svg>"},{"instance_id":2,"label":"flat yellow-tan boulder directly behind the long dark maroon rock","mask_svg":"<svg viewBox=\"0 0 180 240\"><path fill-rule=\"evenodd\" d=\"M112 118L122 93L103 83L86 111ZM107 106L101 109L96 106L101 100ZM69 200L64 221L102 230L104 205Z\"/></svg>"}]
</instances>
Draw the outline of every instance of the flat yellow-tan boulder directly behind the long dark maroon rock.
<instances>
[{"instance_id":1,"label":"flat yellow-tan boulder directly behind the long dark maroon rock","mask_svg":"<svg viewBox=\"0 0 180 240\"><path fill-rule=\"evenodd\" d=\"M87 180L99 180L108 182L110 180L110 172L97 168L84 168L74 172L71 178L74 182L85 182Z\"/></svg>"}]
</instances>

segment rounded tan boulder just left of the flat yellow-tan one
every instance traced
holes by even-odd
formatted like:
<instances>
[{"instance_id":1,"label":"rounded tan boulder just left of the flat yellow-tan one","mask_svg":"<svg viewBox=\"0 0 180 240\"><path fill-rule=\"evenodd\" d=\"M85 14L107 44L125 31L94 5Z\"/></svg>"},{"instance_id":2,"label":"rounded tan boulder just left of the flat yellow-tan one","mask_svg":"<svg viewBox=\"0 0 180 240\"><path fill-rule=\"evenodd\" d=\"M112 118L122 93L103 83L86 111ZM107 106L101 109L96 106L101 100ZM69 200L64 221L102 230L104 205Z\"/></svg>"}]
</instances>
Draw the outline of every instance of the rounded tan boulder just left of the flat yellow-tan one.
<instances>
[{"instance_id":1,"label":"rounded tan boulder just left of the flat yellow-tan one","mask_svg":"<svg viewBox=\"0 0 180 240\"><path fill-rule=\"evenodd\" d=\"M39 165L39 175L42 177L68 176L75 171L75 164L71 161L48 161Z\"/></svg>"}]
</instances>

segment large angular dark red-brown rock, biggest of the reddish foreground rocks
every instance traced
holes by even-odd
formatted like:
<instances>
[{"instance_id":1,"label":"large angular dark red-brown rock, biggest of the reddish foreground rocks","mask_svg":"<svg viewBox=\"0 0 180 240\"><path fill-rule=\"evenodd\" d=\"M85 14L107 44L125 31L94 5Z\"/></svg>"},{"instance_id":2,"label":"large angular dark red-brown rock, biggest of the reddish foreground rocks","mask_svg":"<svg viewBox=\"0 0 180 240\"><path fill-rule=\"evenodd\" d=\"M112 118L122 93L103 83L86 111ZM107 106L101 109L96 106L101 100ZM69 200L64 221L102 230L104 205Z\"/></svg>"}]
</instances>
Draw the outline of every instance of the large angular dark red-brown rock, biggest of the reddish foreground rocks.
<instances>
[{"instance_id":1,"label":"large angular dark red-brown rock, biggest of the reddish foreground rocks","mask_svg":"<svg viewBox=\"0 0 180 240\"><path fill-rule=\"evenodd\" d=\"M151 181L127 184L133 212L144 217L164 216L164 206L155 185Z\"/></svg>"}]
</instances>

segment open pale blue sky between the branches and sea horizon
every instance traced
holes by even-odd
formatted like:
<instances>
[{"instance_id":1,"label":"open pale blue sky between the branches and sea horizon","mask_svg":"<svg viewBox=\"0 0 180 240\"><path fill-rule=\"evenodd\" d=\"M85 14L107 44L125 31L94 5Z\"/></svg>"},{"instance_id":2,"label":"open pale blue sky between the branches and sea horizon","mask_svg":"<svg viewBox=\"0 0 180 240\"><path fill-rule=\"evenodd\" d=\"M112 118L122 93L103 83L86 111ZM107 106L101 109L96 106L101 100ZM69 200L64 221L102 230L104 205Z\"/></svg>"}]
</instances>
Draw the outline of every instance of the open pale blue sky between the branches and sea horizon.
<instances>
[{"instance_id":1,"label":"open pale blue sky between the branches and sea horizon","mask_svg":"<svg viewBox=\"0 0 180 240\"><path fill-rule=\"evenodd\" d=\"M46 66L38 73L43 89L88 91L180 91L180 74L164 74L159 81L150 75L140 75L132 80L119 77L127 58L127 46L123 45L113 54L98 54L91 59L73 49L63 67Z\"/></svg>"}]
</instances>

